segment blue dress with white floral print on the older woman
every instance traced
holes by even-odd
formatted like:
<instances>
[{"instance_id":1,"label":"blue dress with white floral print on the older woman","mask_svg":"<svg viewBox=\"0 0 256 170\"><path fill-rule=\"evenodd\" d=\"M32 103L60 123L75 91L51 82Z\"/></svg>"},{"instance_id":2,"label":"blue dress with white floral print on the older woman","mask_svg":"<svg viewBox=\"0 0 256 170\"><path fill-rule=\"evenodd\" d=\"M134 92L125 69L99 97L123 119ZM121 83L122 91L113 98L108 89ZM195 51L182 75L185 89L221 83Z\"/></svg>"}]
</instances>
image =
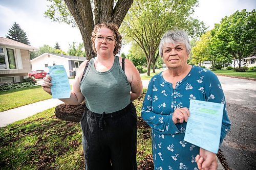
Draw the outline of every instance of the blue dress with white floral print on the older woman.
<instances>
[{"instance_id":1,"label":"blue dress with white floral print on the older woman","mask_svg":"<svg viewBox=\"0 0 256 170\"><path fill-rule=\"evenodd\" d=\"M224 104L221 128L222 143L230 130L225 96L217 76L204 68L192 66L189 74L177 82L166 82L162 72L155 75L143 102L141 116L152 128L152 154L156 170L198 169L195 157L199 147L184 141L186 123L174 124L175 109L189 108L190 99Z\"/></svg>"}]
</instances>

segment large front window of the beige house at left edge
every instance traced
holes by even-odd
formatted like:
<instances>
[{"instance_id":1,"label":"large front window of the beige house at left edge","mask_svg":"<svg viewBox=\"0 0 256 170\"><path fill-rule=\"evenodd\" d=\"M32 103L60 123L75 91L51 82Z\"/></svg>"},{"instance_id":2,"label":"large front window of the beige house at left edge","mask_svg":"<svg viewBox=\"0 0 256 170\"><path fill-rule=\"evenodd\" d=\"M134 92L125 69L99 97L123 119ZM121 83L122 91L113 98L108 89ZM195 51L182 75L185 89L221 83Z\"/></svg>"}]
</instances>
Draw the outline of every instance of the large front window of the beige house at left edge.
<instances>
[{"instance_id":1,"label":"large front window of the beige house at left edge","mask_svg":"<svg viewBox=\"0 0 256 170\"><path fill-rule=\"evenodd\" d=\"M0 46L0 69L17 69L13 48Z\"/></svg>"}]
</instances>

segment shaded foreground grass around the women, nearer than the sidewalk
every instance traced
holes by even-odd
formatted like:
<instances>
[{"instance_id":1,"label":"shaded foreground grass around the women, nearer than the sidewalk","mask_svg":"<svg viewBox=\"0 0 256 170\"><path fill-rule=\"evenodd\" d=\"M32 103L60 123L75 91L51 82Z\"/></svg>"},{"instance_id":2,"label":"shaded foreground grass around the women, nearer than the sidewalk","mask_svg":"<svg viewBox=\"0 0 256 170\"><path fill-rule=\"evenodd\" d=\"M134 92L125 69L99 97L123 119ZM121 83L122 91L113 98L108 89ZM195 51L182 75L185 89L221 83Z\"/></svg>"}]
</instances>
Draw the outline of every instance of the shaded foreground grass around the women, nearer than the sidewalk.
<instances>
[{"instance_id":1,"label":"shaded foreground grass around the women, nearer than the sidewalk","mask_svg":"<svg viewBox=\"0 0 256 170\"><path fill-rule=\"evenodd\" d=\"M134 101L141 108L144 96ZM140 109L137 109L141 120ZM54 108L0 128L1 169L84 169L79 123L57 119ZM151 130L138 122L138 170L152 163ZM152 166L153 167L153 166Z\"/></svg>"}]
</instances>

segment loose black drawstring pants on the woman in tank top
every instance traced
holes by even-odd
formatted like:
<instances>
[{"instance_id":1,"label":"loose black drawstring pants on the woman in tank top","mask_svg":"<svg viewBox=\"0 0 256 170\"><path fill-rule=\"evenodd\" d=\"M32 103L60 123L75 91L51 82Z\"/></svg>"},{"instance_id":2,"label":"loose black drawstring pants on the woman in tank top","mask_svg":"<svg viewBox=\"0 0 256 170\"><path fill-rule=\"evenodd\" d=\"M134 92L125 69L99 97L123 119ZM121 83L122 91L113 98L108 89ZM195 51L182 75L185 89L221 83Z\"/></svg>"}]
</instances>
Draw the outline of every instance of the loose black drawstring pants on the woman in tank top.
<instances>
[{"instance_id":1,"label":"loose black drawstring pants on the woman in tank top","mask_svg":"<svg viewBox=\"0 0 256 170\"><path fill-rule=\"evenodd\" d=\"M81 127L87 170L137 169L137 115L133 103L108 114L86 109Z\"/></svg>"}]
</instances>

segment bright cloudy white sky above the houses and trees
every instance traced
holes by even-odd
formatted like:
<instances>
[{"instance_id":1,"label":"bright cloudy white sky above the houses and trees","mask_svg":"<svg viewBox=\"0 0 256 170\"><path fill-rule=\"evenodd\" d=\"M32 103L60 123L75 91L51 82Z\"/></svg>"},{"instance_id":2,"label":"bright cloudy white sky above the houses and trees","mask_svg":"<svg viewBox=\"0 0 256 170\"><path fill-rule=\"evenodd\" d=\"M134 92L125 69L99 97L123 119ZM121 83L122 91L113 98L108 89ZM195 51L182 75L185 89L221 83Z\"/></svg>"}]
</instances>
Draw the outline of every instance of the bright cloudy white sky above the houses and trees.
<instances>
[{"instance_id":1,"label":"bright cloudy white sky above the houses and trees","mask_svg":"<svg viewBox=\"0 0 256 170\"><path fill-rule=\"evenodd\" d=\"M54 46L58 42L61 50L67 52L69 43L82 42L77 28L44 17L47 5L49 3L46 0L0 0L0 37L6 37L8 30L16 22L27 33L28 40L34 47L44 44ZM237 10L252 11L255 8L255 0L199 0L194 16L204 21L210 30L224 16ZM127 54L127 46L121 52Z\"/></svg>"}]
</instances>

